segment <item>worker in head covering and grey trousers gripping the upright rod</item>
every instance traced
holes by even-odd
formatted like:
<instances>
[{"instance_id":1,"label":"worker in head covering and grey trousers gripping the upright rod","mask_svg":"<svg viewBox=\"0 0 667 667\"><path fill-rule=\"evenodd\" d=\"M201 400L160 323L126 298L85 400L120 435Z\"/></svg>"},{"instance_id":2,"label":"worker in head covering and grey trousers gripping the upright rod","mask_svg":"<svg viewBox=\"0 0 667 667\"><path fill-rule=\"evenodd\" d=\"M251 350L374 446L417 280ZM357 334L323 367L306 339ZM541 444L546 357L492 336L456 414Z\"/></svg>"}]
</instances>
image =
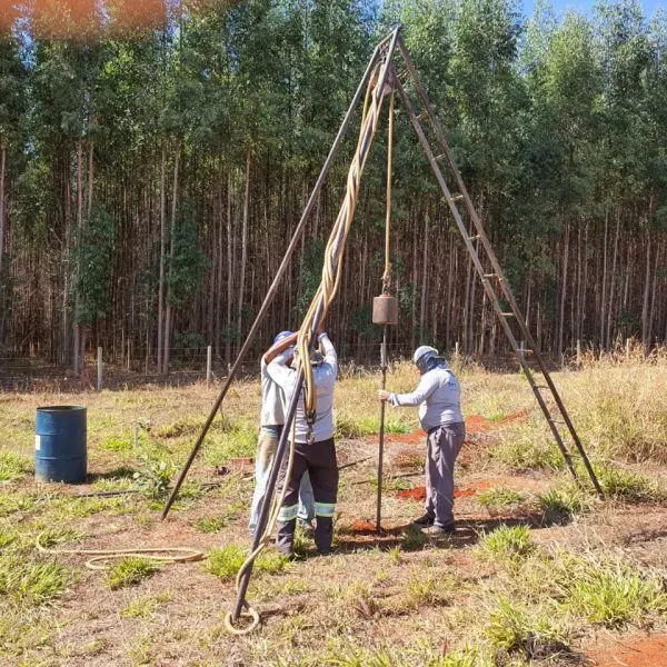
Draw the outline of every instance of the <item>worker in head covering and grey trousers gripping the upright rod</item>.
<instances>
[{"instance_id":1,"label":"worker in head covering and grey trousers gripping the upright rod","mask_svg":"<svg viewBox=\"0 0 667 667\"><path fill-rule=\"evenodd\" d=\"M380 389L378 398L395 407L419 406L419 422L427 432L426 514L415 524L426 535L454 532L454 465L466 437L461 388L438 350L424 345L412 361L421 380L411 394Z\"/></svg>"}]
</instances>

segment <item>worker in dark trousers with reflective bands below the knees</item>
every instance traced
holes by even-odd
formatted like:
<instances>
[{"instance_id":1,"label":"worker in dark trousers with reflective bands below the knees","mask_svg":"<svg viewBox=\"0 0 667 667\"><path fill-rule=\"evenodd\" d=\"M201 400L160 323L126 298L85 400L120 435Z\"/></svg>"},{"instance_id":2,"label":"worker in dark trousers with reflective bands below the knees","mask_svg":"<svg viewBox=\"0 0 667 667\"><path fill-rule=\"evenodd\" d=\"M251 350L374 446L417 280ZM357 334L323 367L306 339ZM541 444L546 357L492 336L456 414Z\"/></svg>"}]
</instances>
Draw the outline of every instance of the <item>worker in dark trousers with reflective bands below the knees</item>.
<instances>
[{"instance_id":1,"label":"worker in dark trousers with reflective bands below the knees","mask_svg":"<svg viewBox=\"0 0 667 667\"><path fill-rule=\"evenodd\" d=\"M321 351L313 349L309 362L317 394L315 422L306 418L302 395L299 397L295 415L295 455L291 474L287 477L286 456L278 486L287 486L282 507L278 515L278 537L276 547L286 556L293 556L295 527L297 519L297 496L301 478L310 474L315 495L315 545L320 555L331 551L334 537L334 509L338 495L338 464L334 444L334 387L338 376L338 357L327 334L317 337ZM296 384L297 370L288 365L286 356L279 356L268 366L271 379L285 391L290 401ZM291 431L291 429L290 429ZM291 438L291 432L290 432Z\"/></svg>"}]
</instances>

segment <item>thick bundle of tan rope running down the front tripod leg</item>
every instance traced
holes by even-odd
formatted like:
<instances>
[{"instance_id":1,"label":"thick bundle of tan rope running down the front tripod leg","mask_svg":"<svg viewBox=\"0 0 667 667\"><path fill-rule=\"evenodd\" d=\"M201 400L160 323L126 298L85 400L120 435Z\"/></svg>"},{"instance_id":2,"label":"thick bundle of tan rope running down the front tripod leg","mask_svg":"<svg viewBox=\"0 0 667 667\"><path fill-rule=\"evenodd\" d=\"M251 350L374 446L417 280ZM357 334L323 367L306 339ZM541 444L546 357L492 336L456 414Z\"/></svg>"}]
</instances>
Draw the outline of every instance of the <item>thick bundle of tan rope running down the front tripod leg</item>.
<instances>
[{"instance_id":1,"label":"thick bundle of tan rope running down the front tripod leg","mask_svg":"<svg viewBox=\"0 0 667 667\"><path fill-rule=\"evenodd\" d=\"M308 308L308 312L303 318L299 335L297 337L297 375L303 371L303 406L306 411L306 418L309 425L309 439L312 430L312 424L315 422L315 415L317 408L317 397L315 378L312 372L312 366L310 364L310 349L312 344L312 336L317 329L317 322L325 320L329 306L334 301L340 283L341 269L342 269L342 257L345 255L345 245L349 235L350 226L355 215L355 208L357 205L357 197L359 195L359 182L364 167L366 165L366 158L368 156L368 148L372 142L375 132L377 129L380 109L382 106L382 91L378 90L377 78L381 64L377 63L369 78L369 83L366 89L366 97L364 100L364 115L361 119L361 128L359 130L359 139L357 141L357 150L352 162L349 168L347 189L345 199L334 223L334 228L329 236L327 247L325 249L325 265L322 267L321 282L317 289L317 292ZM289 479L291 475L293 457L295 457L295 440L296 440L296 418L292 421L292 432L290 439L289 460L285 475L285 480ZM240 589L241 578L245 573L251 567L255 559L259 556L261 550L269 544L271 534L278 520L278 514L280 507L285 500L287 494L287 484L282 485L282 489L279 496L273 496L271 500L271 509L269 514L269 520L265 531L258 542L257 548L248 555L236 577L237 591ZM243 600L245 611L242 616L250 617L251 624L246 628L236 628L233 626L233 619L231 611L225 617L226 629L233 635L247 635L255 630L260 623L259 614Z\"/></svg>"}]
</instances>

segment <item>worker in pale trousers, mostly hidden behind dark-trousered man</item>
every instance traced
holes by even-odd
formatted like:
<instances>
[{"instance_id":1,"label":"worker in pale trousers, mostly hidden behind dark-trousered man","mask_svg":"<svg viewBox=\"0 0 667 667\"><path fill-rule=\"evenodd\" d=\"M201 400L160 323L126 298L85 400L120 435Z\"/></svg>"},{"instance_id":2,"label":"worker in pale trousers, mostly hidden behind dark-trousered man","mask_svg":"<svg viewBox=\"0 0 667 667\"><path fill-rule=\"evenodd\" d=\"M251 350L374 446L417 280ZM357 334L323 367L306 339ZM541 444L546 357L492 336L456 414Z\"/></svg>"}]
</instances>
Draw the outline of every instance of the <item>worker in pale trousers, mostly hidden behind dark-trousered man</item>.
<instances>
[{"instance_id":1,"label":"worker in pale trousers, mostly hidden behind dark-trousered man","mask_svg":"<svg viewBox=\"0 0 667 667\"><path fill-rule=\"evenodd\" d=\"M267 368L269 364L278 358L285 358L289 362L293 356L296 334L281 331L276 336L273 345L261 358L261 428L257 442L257 456L255 464L255 492L252 494L252 507L250 509L250 522L248 528L255 534L259 520L259 507L266 494L267 482L282 426L285 425L285 392L273 382ZM299 489L298 519L302 530L312 534L315 527L315 502L312 486L308 472L301 479Z\"/></svg>"}]
</instances>

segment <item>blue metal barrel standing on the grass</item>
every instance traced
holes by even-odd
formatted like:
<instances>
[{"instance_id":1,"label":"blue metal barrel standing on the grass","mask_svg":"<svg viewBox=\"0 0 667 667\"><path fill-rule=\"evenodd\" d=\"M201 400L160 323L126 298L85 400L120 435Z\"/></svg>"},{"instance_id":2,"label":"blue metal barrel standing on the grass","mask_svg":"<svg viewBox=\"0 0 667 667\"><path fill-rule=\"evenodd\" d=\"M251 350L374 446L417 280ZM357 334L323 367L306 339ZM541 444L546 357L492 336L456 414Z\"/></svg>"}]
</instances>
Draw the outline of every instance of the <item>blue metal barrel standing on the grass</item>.
<instances>
[{"instance_id":1,"label":"blue metal barrel standing on the grass","mask_svg":"<svg viewBox=\"0 0 667 667\"><path fill-rule=\"evenodd\" d=\"M83 406L37 408L34 434L34 476L39 481L86 481Z\"/></svg>"}]
</instances>

